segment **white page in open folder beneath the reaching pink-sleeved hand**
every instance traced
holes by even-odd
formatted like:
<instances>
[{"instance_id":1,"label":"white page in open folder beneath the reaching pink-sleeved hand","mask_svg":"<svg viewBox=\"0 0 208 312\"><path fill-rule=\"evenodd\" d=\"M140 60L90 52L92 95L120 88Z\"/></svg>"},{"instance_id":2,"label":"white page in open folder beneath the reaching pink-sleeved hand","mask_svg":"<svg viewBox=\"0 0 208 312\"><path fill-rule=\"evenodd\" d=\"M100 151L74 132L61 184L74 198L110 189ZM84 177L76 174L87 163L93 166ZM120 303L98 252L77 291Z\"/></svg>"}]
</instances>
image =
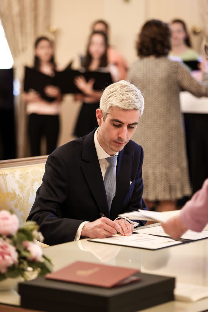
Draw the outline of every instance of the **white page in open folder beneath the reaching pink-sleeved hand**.
<instances>
[{"instance_id":1,"label":"white page in open folder beneath the reaching pink-sleeved hand","mask_svg":"<svg viewBox=\"0 0 208 312\"><path fill-rule=\"evenodd\" d=\"M166 232L163 230L161 225L158 225L156 227L147 227L143 229L137 229L134 230L136 233L144 233L144 234L151 234L151 235L158 235L158 236L166 236L170 237L170 235L166 234ZM202 231L202 232L194 232L191 230L188 230L186 233L184 233L181 238L195 241L197 239L202 239L208 237L208 231Z\"/></svg>"}]
</instances>

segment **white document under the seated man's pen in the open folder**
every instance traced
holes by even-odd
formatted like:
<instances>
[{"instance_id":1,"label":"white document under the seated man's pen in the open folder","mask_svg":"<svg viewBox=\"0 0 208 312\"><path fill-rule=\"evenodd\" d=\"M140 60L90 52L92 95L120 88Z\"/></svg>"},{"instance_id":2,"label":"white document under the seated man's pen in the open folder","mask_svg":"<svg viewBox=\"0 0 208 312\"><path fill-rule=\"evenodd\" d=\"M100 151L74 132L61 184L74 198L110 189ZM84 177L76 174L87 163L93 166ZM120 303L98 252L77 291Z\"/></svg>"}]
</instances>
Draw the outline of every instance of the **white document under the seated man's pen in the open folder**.
<instances>
[{"instance_id":1,"label":"white document under the seated man's pen in the open folder","mask_svg":"<svg viewBox=\"0 0 208 312\"><path fill-rule=\"evenodd\" d=\"M131 236L121 236L119 234L113 235L108 238L93 238L89 241L107 243L113 245L158 249L172 245L181 244L180 241L174 241L171 238L152 236L148 234L138 233Z\"/></svg>"}]
</instances>

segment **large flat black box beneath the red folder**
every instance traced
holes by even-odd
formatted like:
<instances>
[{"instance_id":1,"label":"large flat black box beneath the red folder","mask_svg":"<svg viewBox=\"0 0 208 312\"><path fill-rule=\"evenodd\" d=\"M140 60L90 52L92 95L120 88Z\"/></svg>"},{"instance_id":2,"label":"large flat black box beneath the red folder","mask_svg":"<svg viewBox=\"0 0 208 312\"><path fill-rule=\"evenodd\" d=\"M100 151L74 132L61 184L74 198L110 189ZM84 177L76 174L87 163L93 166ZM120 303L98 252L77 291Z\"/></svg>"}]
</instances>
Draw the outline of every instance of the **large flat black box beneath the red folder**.
<instances>
[{"instance_id":1,"label":"large flat black box beneath the red folder","mask_svg":"<svg viewBox=\"0 0 208 312\"><path fill-rule=\"evenodd\" d=\"M135 312L173 300L175 278L137 275L139 282L110 289L38 277L19 283L21 307L48 312Z\"/></svg>"}]
</instances>

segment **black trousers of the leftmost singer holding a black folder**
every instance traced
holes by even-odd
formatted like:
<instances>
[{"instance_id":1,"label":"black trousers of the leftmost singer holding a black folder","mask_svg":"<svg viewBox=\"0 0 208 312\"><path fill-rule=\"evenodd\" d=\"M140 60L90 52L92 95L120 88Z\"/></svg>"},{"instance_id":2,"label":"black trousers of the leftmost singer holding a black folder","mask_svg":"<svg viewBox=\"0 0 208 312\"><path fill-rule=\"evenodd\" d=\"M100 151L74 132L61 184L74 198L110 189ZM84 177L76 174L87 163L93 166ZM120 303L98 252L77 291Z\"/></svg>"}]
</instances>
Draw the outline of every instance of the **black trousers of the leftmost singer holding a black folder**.
<instances>
[{"instance_id":1,"label":"black trousers of the leftmost singer holding a black folder","mask_svg":"<svg viewBox=\"0 0 208 312\"><path fill-rule=\"evenodd\" d=\"M28 134L31 156L41 155L42 137L46 137L46 154L51 154L56 149L59 127L59 115L29 115Z\"/></svg>"}]
</instances>

